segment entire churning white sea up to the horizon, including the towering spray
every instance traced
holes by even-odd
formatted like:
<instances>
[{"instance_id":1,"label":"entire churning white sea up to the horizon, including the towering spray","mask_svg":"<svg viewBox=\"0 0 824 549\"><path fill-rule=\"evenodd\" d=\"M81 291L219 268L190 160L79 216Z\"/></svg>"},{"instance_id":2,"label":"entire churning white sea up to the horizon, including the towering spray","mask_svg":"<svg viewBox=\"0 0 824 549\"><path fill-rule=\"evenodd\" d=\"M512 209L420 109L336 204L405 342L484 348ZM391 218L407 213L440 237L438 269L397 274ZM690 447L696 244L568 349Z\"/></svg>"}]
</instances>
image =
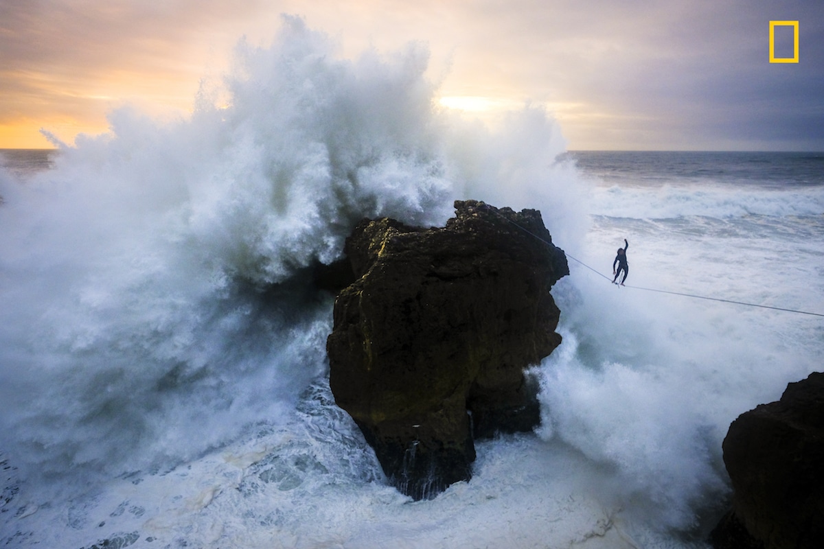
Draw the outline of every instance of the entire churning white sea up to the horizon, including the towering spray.
<instances>
[{"instance_id":1,"label":"entire churning white sea up to the horizon, including the towering spray","mask_svg":"<svg viewBox=\"0 0 824 549\"><path fill-rule=\"evenodd\" d=\"M569 152L541 109L441 109L427 59L287 19L190 117L4 161L0 547L706 547L729 423L822 370L824 155ZM307 272L456 198L541 210L564 343L540 429L414 502L335 407Z\"/></svg>"}]
</instances>

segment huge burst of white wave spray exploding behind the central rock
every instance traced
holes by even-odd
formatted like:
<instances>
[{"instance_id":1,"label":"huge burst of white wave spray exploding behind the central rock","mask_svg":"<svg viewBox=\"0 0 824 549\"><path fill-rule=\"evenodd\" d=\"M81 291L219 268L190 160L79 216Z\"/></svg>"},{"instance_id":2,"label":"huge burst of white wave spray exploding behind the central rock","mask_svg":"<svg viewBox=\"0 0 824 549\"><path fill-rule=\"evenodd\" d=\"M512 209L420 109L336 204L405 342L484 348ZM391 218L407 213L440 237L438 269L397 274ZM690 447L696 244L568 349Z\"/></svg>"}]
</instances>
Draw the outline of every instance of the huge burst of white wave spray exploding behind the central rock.
<instances>
[{"instance_id":1,"label":"huge burst of white wave spray exploding behind the central rock","mask_svg":"<svg viewBox=\"0 0 824 549\"><path fill-rule=\"evenodd\" d=\"M0 195L3 450L80 484L167 468L290 417L325 372L330 297L302 281L363 217L441 225L455 198L583 235L541 109L492 132L438 106L428 51L355 60L285 17L172 121L131 108ZM59 482L57 483L59 485Z\"/></svg>"}]
</instances>

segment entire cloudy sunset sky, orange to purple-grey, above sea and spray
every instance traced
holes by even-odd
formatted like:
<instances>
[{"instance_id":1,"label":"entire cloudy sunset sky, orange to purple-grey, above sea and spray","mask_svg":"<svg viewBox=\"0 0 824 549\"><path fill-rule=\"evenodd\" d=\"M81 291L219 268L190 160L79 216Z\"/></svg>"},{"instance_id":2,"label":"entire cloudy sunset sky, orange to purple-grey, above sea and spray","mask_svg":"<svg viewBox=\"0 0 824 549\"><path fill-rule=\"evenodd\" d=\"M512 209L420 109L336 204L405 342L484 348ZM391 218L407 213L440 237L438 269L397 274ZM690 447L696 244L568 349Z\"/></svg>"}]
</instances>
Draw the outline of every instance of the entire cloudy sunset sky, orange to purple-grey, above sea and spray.
<instances>
[{"instance_id":1,"label":"entire cloudy sunset sky, orange to purple-grey, above sea and spray","mask_svg":"<svg viewBox=\"0 0 824 549\"><path fill-rule=\"evenodd\" d=\"M423 42L445 104L546 105L570 149L824 150L822 0L0 0L0 147L186 111L282 13L344 57Z\"/></svg>"}]
</instances>

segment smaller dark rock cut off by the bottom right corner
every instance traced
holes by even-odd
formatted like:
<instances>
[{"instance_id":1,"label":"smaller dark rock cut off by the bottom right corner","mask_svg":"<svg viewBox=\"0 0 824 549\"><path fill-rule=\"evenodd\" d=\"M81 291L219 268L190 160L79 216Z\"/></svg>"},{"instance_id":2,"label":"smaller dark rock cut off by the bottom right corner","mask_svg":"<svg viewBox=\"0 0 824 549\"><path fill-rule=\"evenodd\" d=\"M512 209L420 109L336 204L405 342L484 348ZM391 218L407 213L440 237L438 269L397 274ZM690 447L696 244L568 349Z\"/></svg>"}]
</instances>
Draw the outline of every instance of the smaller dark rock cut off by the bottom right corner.
<instances>
[{"instance_id":1,"label":"smaller dark rock cut off by the bottom right corner","mask_svg":"<svg viewBox=\"0 0 824 549\"><path fill-rule=\"evenodd\" d=\"M824 547L824 374L787 386L743 413L723 441L733 509L712 534L718 549Z\"/></svg>"}]
</instances>

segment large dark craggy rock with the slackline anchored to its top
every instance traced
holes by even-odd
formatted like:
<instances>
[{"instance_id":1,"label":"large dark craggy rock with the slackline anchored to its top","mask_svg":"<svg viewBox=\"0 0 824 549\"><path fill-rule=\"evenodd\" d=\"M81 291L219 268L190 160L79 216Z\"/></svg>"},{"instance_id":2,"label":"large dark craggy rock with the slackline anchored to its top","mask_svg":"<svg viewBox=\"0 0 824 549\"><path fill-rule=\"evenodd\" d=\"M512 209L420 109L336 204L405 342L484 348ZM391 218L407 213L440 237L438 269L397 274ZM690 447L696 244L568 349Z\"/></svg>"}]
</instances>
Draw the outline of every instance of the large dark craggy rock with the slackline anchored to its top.
<instances>
[{"instance_id":1,"label":"large dark craggy rock with the slackline anchored to its top","mask_svg":"<svg viewBox=\"0 0 824 549\"><path fill-rule=\"evenodd\" d=\"M346 241L358 280L326 344L335 401L415 499L471 477L475 436L537 425L524 369L561 341L550 287L569 268L540 212L455 209L445 228L358 224Z\"/></svg>"}]
</instances>

